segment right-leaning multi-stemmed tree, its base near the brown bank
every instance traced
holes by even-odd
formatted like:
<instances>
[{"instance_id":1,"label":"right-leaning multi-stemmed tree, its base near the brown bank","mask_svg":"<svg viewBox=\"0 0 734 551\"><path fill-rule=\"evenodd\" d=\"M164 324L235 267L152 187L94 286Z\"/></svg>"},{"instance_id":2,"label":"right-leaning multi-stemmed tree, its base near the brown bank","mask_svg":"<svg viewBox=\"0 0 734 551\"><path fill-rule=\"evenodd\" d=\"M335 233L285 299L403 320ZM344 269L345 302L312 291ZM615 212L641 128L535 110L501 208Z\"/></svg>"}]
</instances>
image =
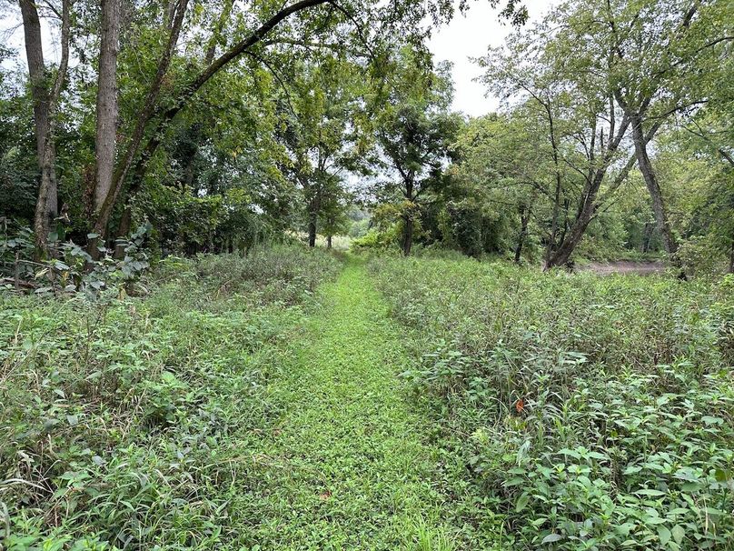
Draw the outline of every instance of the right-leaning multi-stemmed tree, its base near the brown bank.
<instances>
[{"instance_id":1,"label":"right-leaning multi-stemmed tree, its base near the brown bank","mask_svg":"<svg viewBox=\"0 0 734 551\"><path fill-rule=\"evenodd\" d=\"M630 125L630 117L620 113L611 95L609 56L598 55L593 48L584 51L588 57L571 56L576 28L567 25L554 35L551 24L549 19L527 33L514 35L504 48L491 50L481 59L486 69L484 82L521 101L535 116L535 125L548 145L554 191L547 267L569 262L609 195L600 195L600 191L607 184L610 167L618 161ZM610 193L630 168L630 163L620 167L609 182ZM573 203L575 215L561 229L561 205L568 208Z\"/></svg>"}]
</instances>

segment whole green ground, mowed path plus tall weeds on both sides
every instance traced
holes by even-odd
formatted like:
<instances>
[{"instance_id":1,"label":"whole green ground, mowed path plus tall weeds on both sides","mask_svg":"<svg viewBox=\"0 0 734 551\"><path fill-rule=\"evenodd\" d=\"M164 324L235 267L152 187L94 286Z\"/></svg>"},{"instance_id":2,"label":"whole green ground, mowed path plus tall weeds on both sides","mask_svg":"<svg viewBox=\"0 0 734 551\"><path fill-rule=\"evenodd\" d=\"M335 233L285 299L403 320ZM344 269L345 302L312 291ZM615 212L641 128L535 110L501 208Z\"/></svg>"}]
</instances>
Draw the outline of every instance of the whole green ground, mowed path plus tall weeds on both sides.
<instances>
[{"instance_id":1,"label":"whole green ground, mowed path plus tall weeds on both sides","mask_svg":"<svg viewBox=\"0 0 734 551\"><path fill-rule=\"evenodd\" d=\"M14 551L730 549L734 281L299 247L1 296Z\"/></svg>"}]
</instances>

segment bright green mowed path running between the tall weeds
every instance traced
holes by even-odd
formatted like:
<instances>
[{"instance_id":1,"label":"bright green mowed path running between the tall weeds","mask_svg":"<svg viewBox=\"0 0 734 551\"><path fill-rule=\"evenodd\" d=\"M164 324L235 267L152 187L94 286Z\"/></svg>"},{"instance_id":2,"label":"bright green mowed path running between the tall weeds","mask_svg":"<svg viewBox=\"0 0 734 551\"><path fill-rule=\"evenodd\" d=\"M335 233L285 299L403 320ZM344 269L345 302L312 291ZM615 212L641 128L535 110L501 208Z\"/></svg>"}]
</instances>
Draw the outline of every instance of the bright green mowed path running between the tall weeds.
<instances>
[{"instance_id":1,"label":"bright green mowed path running between the tall weeds","mask_svg":"<svg viewBox=\"0 0 734 551\"><path fill-rule=\"evenodd\" d=\"M322 287L324 307L283 351L284 408L259 459L263 549L451 549L429 421L397 374L411 362L362 265Z\"/></svg>"}]
</instances>

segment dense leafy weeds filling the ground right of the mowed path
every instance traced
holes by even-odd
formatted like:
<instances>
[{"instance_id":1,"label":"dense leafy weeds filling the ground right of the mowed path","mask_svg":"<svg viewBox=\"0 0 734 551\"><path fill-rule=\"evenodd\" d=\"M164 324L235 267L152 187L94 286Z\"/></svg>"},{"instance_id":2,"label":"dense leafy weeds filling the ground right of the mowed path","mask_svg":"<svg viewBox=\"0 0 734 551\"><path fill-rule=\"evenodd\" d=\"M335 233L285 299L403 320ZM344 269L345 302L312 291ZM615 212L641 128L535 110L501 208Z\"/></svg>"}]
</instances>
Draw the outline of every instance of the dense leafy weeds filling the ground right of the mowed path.
<instances>
[{"instance_id":1,"label":"dense leafy weeds filling the ground right of the mowed path","mask_svg":"<svg viewBox=\"0 0 734 551\"><path fill-rule=\"evenodd\" d=\"M728 549L734 280L375 259L501 548ZM448 468L448 467L447 467Z\"/></svg>"}]
</instances>

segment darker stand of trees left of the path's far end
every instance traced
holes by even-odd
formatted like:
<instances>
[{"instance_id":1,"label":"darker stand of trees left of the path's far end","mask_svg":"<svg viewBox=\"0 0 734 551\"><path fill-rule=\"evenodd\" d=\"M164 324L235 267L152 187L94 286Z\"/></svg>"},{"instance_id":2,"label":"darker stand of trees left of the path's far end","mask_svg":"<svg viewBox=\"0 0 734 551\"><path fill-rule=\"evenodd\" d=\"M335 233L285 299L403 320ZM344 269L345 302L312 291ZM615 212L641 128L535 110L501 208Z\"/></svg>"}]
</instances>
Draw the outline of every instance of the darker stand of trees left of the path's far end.
<instances>
[{"instance_id":1,"label":"darker stand of trees left of the path's far end","mask_svg":"<svg viewBox=\"0 0 734 551\"><path fill-rule=\"evenodd\" d=\"M515 0L502 7L523 19ZM68 238L88 240L94 256L144 220L184 251L304 226L313 242L317 224L339 231L344 174L367 161L395 52L411 45L428 71L423 42L454 6L18 0L3 9L22 24L25 55L2 48L0 215L32 225L43 257Z\"/></svg>"}]
</instances>

